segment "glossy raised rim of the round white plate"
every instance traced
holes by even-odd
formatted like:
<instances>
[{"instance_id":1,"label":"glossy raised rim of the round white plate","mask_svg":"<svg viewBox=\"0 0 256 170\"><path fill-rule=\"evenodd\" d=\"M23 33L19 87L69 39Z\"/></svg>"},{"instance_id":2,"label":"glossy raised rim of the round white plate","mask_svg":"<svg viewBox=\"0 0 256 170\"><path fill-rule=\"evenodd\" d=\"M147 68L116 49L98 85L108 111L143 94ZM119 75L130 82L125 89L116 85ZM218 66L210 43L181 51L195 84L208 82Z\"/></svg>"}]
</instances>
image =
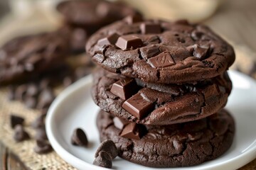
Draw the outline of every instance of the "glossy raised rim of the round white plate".
<instances>
[{"instance_id":1,"label":"glossy raised rim of the round white plate","mask_svg":"<svg viewBox=\"0 0 256 170\"><path fill-rule=\"evenodd\" d=\"M253 86L256 86L256 81L252 78L250 78L249 76L247 76L246 74L242 74L240 72L237 71L228 71L228 73L230 74L237 74L238 76L245 78L250 84L252 84ZM92 75L88 75L78 81L76 81L74 84L71 84L70 86L68 86L68 88L64 89L53 101L53 103L50 105L50 108L48 109L48 113L46 115L46 134L48 136L48 140L50 142L50 144L52 145L53 149L55 150L55 152L58 154L58 156L60 156L65 162L68 162L68 164L72 165L72 164L78 164L78 166L84 166L84 168L90 168L92 170L94 169L107 169L104 167L100 167L100 166L95 166L93 164L90 164L88 162L83 161L82 159L80 159L79 157L75 157L73 154L71 154L70 152L68 152L68 150L66 150L64 147L62 147L62 145L60 145L58 143L58 140L54 137L54 130L53 130L53 120L54 120L54 115L55 115L55 110L56 108L58 108L58 106L65 100L65 98L67 98L68 96L72 95L75 91L80 90L83 86L87 86L92 84ZM256 140L255 140L256 142ZM242 154L239 154L236 157L233 157L231 159L228 159L225 162L220 162L218 164L208 164L206 166L187 166L187 167L176 167L179 169L219 169L222 166L228 166L228 164L232 164L233 162L236 162L238 160L240 160L242 157L245 157L245 159L242 159L242 163L240 161L240 165L239 166L235 166L233 168L240 168L241 166L244 166L245 164L251 162L253 159L255 159L256 157L256 145L254 147L252 147L251 149L248 149L247 151L243 152ZM72 165L73 166L73 165ZM232 167L230 167L232 168ZM167 169L167 168L166 168ZM169 168L170 169L170 168Z\"/></svg>"}]
</instances>

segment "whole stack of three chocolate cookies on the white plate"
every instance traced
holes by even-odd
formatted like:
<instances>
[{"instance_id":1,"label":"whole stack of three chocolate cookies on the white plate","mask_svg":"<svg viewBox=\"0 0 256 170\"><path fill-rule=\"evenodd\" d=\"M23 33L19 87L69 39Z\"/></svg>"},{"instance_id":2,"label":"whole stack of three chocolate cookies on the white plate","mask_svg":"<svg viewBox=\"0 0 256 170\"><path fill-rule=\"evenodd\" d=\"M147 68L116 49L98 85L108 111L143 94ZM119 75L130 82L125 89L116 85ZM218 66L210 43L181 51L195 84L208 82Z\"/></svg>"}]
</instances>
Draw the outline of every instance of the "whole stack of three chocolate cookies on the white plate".
<instances>
[{"instance_id":1,"label":"whole stack of three chocolate cookies on the white plate","mask_svg":"<svg viewBox=\"0 0 256 170\"><path fill-rule=\"evenodd\" d=\"M152 167L192 166L223 154L235 125L223 110L235 54L209 28L129 16L92 35L100 67L92 98L100 140L119 157Z\"/></svg>"}]
</instances>

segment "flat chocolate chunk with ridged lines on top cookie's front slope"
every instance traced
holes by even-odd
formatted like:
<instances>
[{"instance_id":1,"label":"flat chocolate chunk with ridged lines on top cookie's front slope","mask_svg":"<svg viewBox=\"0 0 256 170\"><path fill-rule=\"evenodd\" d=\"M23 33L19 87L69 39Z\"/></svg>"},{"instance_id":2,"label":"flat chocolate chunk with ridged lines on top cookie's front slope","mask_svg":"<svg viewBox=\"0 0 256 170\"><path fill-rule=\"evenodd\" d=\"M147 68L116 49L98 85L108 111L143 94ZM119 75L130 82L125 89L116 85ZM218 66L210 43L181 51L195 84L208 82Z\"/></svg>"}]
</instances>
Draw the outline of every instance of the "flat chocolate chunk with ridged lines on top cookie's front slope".
<instances>
[{"instance_id":1,"label":"flat chocolate chunk with ridged lines on top cookie's front slope","mask_svg":"<svg viewBox=\"0 0 256 170\"><path fill-rule=\"evenodd\" d=\"M174 59L171 57L169 52L162 52L156 57L150 58L148 62L153 68L168 67L175 64Z\"/></svg>"}]
</instances>

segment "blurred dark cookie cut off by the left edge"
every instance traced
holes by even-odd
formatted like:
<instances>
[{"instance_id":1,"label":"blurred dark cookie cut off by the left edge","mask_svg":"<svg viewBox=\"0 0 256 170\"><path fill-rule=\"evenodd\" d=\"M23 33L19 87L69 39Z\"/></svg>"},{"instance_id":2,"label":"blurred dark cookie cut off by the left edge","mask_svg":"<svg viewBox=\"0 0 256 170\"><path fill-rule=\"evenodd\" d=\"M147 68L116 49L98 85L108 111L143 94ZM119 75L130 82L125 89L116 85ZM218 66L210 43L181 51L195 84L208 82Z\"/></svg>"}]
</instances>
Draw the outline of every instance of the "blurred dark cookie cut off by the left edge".
<instances>
[{"instance_id":1,"label":"blurred dark cookie cut off by the left edge","mask_svg":"<svg viewBox=\"0 0 256 170\"><path fill-rule=\"evenodd\" d=\"M0 84L37 77L60 67L67 47L58 32L14 38L0 48Z\"/></svg>"}]
</instances>

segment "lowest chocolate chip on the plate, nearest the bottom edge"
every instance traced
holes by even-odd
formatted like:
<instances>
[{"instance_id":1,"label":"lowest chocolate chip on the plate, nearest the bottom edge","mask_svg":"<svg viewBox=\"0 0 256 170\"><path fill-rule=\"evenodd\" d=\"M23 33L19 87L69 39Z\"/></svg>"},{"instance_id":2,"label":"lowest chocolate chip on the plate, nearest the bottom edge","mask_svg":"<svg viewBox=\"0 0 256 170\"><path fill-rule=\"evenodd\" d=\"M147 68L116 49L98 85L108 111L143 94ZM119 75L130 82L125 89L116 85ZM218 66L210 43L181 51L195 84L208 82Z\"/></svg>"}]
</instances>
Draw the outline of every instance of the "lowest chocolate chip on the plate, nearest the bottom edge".
<instances>
[{"instance_id":1,"label":"lowest chocolate chip on the plate, nearest the bottom edge","mask_svg":"<svg viewBox=\"0 0 256 170\"><path fill-rule=\"evenodd\" d=\"M93 164L111 169L112 168L112 159L110 157L110 154L108 154L105 151L101 151L99 153L99 156L94 160Z\"/></svg>"}]
</instances>

